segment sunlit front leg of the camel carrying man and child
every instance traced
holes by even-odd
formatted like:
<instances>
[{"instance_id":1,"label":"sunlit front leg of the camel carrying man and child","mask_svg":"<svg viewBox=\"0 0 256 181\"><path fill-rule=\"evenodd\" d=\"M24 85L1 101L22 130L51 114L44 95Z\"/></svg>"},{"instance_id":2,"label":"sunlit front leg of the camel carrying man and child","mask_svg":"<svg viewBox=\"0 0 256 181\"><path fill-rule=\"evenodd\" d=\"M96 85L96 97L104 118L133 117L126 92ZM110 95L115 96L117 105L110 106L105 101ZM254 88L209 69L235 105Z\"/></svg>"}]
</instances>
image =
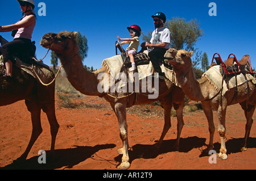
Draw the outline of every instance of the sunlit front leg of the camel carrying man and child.
<instances>
[{"instance_id":1,"label":"sunlit front leg of the camel carrying man and child","mask_svg":"<svg viewBox=\"0 0 256 181\"><path fill-rule=\"evenodd\" d=\"M128 129L127 129L127 122L126 122L126 107L124 105L126 104L124 103L114 104L115 115L117 115L118 124L119 124L120 137L123 142L122 163L117 167L118 169L121 169L121 170L129 169L130 167L129 155L128 155L129 144L128 144Z\"/></svg>"}]
</instances>

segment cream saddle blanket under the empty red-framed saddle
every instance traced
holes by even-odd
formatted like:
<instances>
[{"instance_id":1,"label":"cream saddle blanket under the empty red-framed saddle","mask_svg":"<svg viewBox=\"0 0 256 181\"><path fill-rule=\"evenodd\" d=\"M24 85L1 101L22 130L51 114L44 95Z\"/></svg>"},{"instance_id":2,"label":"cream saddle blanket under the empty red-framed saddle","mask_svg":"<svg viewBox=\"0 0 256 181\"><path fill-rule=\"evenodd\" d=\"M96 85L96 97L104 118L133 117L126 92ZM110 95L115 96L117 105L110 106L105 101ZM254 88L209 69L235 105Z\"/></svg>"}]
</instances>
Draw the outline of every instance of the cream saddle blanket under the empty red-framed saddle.
<instances>
[{"instance_id":1,"label":"cream saddle blanket under the empty red-framed saddle","mask_svg":"<svg viewBox=\"0 0 256 181\"><path fill-rule=\"evenodd\" d=\"M220 65L215 65L212 68L210 68L209 70L207 70L202 75L202 78L203 77L207 78L208 81L210 82L210 85L214 86L216 90L221 89L222 75L220 73ZM251 81L254 84L256 84L256 80L251 74L246 74L246 78L248 81ZM246 79L243 76L243 74L238 74L237 75L237 86L240 86L245 82L246 82ZM228 84L229 84L229 89L236 87L236 77L233 76L232 78L230 78ZM228 91L228 87L226 85L226 82L223 81L222 95L224 95L226 91Z\"/></svg>"}]
</instances>

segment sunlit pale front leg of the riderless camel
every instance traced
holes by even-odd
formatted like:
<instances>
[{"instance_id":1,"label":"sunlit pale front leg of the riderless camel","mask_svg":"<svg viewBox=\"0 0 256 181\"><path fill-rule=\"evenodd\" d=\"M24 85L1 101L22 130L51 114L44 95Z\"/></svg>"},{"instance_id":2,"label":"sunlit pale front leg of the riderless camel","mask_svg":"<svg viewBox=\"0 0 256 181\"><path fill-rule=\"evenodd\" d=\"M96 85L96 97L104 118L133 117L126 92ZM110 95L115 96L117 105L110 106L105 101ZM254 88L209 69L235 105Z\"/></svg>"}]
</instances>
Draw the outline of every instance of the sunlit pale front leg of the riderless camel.
<instances>
[{"instance_id":1,"label":"sunlit pale front leg of the riderless camel","mask_svg":"<svg viewBox=\"0 0 256 181\"><path fill-rule=\"evenodd\" d=\"M220 134L221 138L221 148L218 157L221 159L228 159L228 155L226 155L226 145L225 145L225 133L226 133L226 126L225 126L225 116L226 116L226 106L219 106L217 110L218 116L218 133Z\"/></svg>"}]
</instances>

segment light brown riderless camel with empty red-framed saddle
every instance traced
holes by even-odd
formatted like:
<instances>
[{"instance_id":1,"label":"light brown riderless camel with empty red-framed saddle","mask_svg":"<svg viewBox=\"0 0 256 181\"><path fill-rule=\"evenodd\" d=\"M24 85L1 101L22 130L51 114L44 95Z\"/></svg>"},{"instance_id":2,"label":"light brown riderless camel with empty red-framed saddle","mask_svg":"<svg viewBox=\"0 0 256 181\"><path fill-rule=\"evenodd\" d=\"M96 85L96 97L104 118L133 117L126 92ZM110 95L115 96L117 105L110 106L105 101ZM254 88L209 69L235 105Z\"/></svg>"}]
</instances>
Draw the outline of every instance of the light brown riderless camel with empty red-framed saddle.
<instances>
[{"instance_id":1,"label":"light brown riderless camel with empty red-framed saddle","mask_svg":"<svg viewBox=\"0 0 256 181\"><path fill-rule=\"evenodd\" d=\"M205 116L208 120L210 133L209 145L207 149L204 150L204 153L209 153L209 150L213 149L213 134L215 128L213 123L212 107L217 110L218 133L220 134L221 138L221 148L218 157L220 157L221 159L227 159L228 155L226 154L227 150L225 146L226 107L232 104L240 103L242 109L244 110L247 122L245 140L243 142L241 150L245 151L251 125L253 124L252 116L256 105L255 85L250 81L249 87L246 87L246 83L238 86L236 99L234 99L236 87L230 89L229 91L226 91L225 95L223 95L221 98L220 91L217 91L205 77L202 77L198 81L195 79L191 61L192 55L192 51L187 52L185 50L169 49L164 55L164 58L166 58L166 62L170 62L170 64L173 66L176 73L177 82L180 83L185 95L191 100L201 101ZM250 90L250 94L248 95L249 99L247 99L246 89Z\"/></svg>"}]
</instances>

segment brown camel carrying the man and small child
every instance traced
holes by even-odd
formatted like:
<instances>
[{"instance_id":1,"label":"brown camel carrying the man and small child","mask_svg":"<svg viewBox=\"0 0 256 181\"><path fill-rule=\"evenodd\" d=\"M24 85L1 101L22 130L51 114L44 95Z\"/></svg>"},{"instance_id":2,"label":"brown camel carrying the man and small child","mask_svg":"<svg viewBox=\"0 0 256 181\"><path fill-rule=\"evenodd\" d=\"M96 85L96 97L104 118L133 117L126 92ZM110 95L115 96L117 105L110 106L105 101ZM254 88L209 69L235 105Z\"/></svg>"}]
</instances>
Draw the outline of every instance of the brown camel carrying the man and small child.
<instances>
[{"instance_id":1,"label":"brown camel carrying the man and small child","mask_svg":"<svg viewBox=\"0 0 256 181\"><path fill-rule=\"evenodd\" d=\"M119 134L122 140L123 147L118 149L119 154L122 155L122 161L117 166L117 169L129 169L129 142L128 142L128 131L126 121L126 108L131 107L135 104L147 104L160 100L164 108L164 128L158 143L153 148L158 150L162 144L163 138L171 127L171 108L174 106L177 113L177 138L175 142L175 149L179 149L179 139L181 129L183 128L183 105L184 105L184 93L180 87L177 87L171 81L159 81L159 96L155 99L148 99L147 93L144 94L130 94L127 95L125 92L99 92L98 85L102 81L98 80L98 75L106 73L109 75L109 71L105 66L102 66L99 70L89 72L82 66L81 56L79 54L79 47L76 43L77 32L61 31L59 33L46 33L40 45L44 48L53 50L67 74L69 82L76 90L82 94L91 96L104 97L106 101L112 106L115 115L118 119ZM110 75L109 75L110 76ZM104 81L104 79L103 79ZM141 89L141 82L140 82ZM148 93L149 94L149 93Z\"/></svg>"}]
</instances>

